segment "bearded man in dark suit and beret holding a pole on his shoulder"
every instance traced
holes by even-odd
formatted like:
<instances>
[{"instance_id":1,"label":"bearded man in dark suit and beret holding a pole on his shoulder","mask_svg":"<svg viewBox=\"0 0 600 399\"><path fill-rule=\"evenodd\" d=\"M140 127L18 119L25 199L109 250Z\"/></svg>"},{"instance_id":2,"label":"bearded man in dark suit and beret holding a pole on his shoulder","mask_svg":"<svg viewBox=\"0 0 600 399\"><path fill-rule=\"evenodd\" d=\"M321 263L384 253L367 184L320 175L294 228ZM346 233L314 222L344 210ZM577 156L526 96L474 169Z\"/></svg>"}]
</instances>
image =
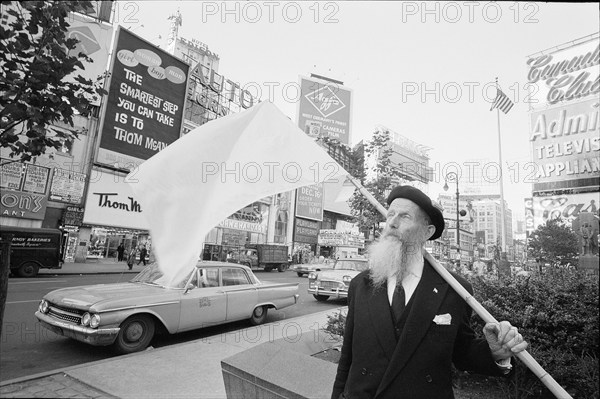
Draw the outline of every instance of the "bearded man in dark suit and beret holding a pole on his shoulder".
<instances>
[{"instance_id":1,"label":"bearded man in dark suit and beret holding a pole on his shoulder","mask_svg":"<svg viewBox=\"0 0 600 399\"><path fill-rule=\"evenodd\" d=\"M386 227L369 247L370 268L350 283L344 343L332 399L453 398L451 364L487 375L510 373L524 350L507 321L477 339L471 309L423 257L444 230L441 210L420 190L395 187ZM454 277L469 292L471 285Z\"/></svg>"}]
</instances>

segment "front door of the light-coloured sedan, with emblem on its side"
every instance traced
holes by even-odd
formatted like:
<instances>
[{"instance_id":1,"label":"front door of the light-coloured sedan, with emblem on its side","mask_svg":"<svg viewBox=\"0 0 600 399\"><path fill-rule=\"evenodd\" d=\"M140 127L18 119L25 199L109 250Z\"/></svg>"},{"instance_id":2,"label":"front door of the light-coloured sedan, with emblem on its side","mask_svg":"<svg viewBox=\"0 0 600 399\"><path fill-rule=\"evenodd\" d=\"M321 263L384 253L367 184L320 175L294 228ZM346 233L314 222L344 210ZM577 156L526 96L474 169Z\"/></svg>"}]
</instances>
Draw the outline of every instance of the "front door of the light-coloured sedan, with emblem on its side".
<instances>
[{"instance_id":1,"label":"front door of the light-coloured sedan, with emblem on its side","mask_svg":"<svg viewBox=\"0 0 600 399\"><path fill-rule=\"evenodd\" d=\"M209 327L225 322L227 297L219 284L219 268L195 270L194 288L181 294L180 331Z\"/></svg>"}]
</instances>

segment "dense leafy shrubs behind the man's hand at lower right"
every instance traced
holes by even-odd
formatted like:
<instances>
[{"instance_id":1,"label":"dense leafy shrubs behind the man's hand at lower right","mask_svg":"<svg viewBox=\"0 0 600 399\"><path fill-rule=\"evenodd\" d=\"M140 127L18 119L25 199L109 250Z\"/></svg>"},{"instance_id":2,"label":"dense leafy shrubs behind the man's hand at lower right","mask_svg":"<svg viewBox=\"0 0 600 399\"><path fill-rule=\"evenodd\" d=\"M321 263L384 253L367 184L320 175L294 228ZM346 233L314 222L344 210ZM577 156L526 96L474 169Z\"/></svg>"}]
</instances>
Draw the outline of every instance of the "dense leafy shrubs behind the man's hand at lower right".
<instances>
[{"instance_id":1,"label":"dense leafy shrubs behind the man's hand at lower right","mask_svg":"<svg viewBox=\"0 0 600 399\"><path fill-rule=\"evenodd\" d=\"M599 398L598 278L572 270L499 280L473 278L475 297L496 318L519 328L529 352L575 398ZM471 320L481 334L483 321ZM520 362L507 397L552 398Z\"/></svg>"}]
</instances>

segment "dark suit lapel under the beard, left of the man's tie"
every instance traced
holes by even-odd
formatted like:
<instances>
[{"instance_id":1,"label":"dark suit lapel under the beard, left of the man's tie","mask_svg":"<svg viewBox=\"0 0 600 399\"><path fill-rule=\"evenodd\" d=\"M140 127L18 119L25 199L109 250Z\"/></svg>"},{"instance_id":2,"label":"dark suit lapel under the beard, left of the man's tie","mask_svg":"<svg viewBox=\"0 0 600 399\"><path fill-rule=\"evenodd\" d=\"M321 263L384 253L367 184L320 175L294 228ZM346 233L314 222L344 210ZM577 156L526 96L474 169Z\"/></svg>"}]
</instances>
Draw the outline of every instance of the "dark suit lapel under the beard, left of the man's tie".
<instances>
[{"instance_id":1,"label":"dark suit lapel under the beard, left of the man's tie","mask_svg":"<svg viewBox=\"0 0 600 399\"><path fill-rule=\"evenodd\" d=\"M365 276L365 284L370 292L368 300L369 317L371 318L371 323L373 323L373 329L375 335L377 335L379 345L383 348L383 353L385 353L389 361L392 359L392 354L396 348L396 336L394 335L394 322L392 321L391 313L382 310L389 309L390 307L387 297L387 285L374 290L368 276Z\"/></svg>"}]
</instances>

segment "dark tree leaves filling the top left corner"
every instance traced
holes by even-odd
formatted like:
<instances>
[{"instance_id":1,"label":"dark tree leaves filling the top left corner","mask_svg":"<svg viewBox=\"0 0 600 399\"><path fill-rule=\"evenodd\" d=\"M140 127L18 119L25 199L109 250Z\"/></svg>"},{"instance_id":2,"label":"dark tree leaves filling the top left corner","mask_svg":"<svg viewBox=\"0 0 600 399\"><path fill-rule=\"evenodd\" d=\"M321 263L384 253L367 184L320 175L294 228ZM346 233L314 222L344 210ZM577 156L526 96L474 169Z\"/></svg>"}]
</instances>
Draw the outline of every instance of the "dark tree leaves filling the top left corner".
<instances>
[{"instance_id":1,"label":"dark tree leaves filling the top left corner","mask_svg":"<svg viewBox=\"0 0 600 399\"><path fill-rule=\"evenodd\" d=\"M90 1L3 2L9 24L0 26L0 145L10 157L28 161L76 138L52 124L73 126L73 116L89 115L93 97L105 93L102 77L74 74L92 60L72 54L79 41L68 37L69 13L91 8Z\"/></svg>"}]
</instances>

